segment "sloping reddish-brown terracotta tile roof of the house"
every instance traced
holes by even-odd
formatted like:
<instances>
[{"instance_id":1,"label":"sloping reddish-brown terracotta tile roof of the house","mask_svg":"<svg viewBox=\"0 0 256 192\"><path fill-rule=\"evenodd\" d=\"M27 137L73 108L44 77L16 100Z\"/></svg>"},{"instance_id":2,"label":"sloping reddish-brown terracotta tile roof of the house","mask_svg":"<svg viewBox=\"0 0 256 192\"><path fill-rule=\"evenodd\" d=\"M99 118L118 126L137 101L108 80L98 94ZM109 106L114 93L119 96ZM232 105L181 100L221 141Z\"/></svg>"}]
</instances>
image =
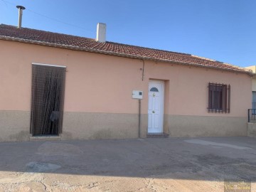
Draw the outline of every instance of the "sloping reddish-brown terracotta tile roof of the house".
<instances>
[{"instance_id":1,"label":"sloping reddish-brown terracotta tile roof of the house","mask_svg":"<svg viewBox=\"0 0 256 192\"><path fill-rule=\"evenodd\" d=\"M31 28L16 28L15 26L8 26L4 24L0 25L0 39L249 73L244 68L239 68L228 63L221 63L216 60L201 58L196 55L176 53L153 48L143 48L139 46L129 46L109 41L106 43L100 43L92 38L39 31Z\"/></svg>"}]
</instances>

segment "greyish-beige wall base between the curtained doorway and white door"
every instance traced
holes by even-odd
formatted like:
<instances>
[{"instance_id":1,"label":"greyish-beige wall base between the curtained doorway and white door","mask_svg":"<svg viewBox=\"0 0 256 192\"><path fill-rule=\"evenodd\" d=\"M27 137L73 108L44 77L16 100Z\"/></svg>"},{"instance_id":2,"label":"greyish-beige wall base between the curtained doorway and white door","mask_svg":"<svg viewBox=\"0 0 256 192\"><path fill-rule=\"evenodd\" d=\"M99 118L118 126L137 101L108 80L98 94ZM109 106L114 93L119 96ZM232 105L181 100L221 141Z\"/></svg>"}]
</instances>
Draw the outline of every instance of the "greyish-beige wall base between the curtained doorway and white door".
<instances>
[{"instance_id":1,"label":"greyish-beige wall base between the curtained doorway and white door","mask_svg":"<svg viewBox=\"0 0 256 192\"><path fill-rule=\"evenodd\" d=\"M146 120L145 120L146 119ZM146 122L146 124L145 124ZM142 114L141 136L146 137L147 115ZM138 114L64 112L62 139L138 138Z\"/></svg>"}]
</instances>

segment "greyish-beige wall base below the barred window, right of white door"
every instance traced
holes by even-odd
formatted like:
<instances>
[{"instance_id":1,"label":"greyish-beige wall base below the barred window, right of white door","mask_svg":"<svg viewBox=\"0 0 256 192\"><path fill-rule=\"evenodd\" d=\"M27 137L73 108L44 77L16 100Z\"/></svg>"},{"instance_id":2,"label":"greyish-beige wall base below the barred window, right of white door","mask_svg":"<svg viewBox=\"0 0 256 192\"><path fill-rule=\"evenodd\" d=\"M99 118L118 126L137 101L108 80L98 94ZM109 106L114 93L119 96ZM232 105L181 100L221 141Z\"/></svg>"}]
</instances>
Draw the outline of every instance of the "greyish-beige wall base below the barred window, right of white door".
<instances>
[{"instance_id":1,"label":"greyish-beige wall base below the barred window, right of white door","mask_svg":"<svg viewBox=\"0 0 256 192\"><path fill-rule=\"evenodd\" d=\"M168 115L170 137L247 136L247 117Z\"/></svg>"}]
</instances>

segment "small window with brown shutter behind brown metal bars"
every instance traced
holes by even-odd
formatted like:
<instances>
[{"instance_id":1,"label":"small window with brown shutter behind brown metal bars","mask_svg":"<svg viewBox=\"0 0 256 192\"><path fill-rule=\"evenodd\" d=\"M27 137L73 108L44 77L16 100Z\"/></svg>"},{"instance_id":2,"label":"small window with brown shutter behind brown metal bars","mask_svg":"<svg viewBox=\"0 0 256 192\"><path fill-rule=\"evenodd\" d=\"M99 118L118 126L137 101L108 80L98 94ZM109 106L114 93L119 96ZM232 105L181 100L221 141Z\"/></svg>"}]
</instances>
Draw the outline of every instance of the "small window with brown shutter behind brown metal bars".
<instances>
[{"instance_id":1,"label":"small window with brown shutter behind brown metal bars","mask_svg":"<svg viewBox=\"0 0 256 192\"><path fill-rule=\"evenodd\" d=\"M208 112L230 112L230 85L208 85Z\"/></svg>"}]
</instances>

